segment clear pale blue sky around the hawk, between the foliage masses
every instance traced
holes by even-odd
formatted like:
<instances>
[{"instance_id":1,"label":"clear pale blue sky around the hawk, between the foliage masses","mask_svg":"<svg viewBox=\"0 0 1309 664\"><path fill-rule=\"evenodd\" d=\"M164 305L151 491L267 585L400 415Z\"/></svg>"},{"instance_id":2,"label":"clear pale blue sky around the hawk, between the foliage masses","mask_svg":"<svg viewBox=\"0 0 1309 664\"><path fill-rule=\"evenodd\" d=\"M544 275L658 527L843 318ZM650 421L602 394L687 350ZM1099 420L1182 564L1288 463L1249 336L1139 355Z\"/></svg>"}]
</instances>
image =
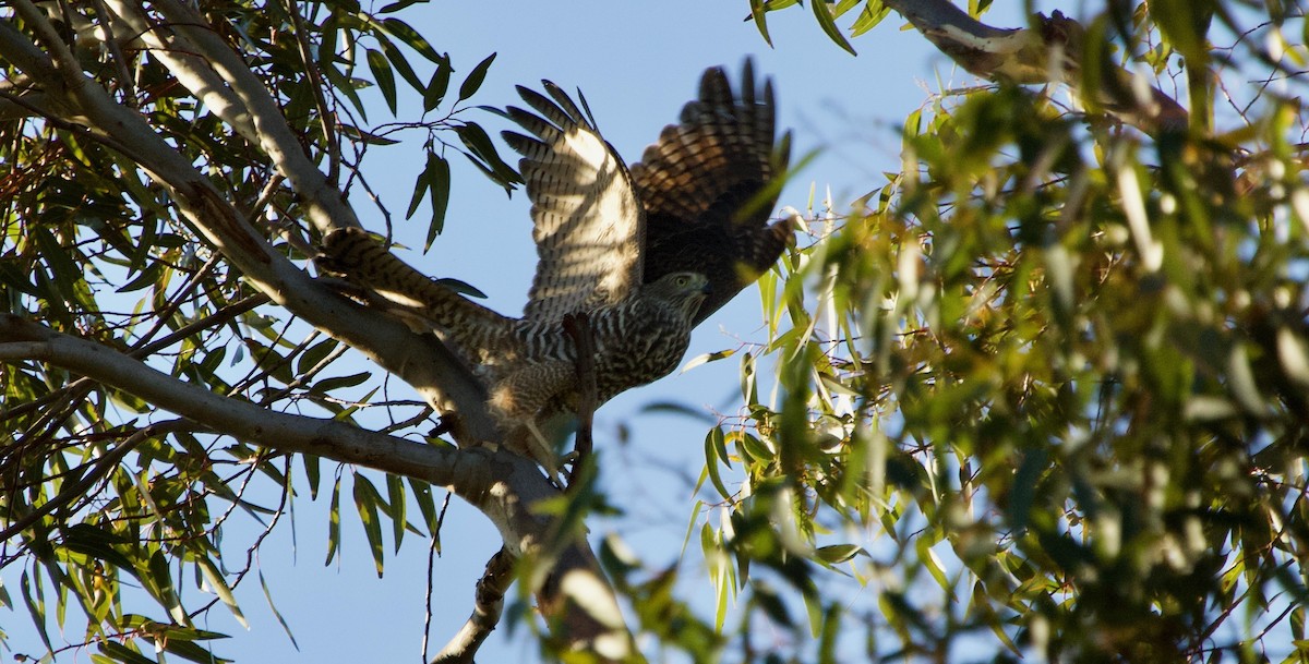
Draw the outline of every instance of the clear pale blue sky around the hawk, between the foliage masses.
<instances>
[{"instance_id":1,"label":"clear pale blue sky around the hawk, between the foliage masses","mask_svg":"<svg viewBox=\"0 0 1309 664\"><path fill-rule=\"evenodd\" d=\"M899 167L898 124L903 118L924 102L928 90L974 82L919 34L899 30L901 21L894 16L856 39L859 56L852 58L822 34L808 8L772 16L775 48L763 42L751 22L744 21L747 12L745 0L433 1L414 5L401 16L439 51L450 52L461 69L456 85L482 58L499 52L475 103L516 103L514 84L535 86L539 78L550 78L569 91L581 88L601 131L628 162L636 161L660 129L677 119L682 103L695 94L704 68L726 64L737 81L742 59L753 55L757 72L774 78L779 124L795 131L793 156L823 150L781 196L780 204L800 210L809 204L812 186L817 187L818 200L830 187L840 209L844 201L882 184L881 173ZM1012 13L1005 18L1014 20ZM418 56L411 61L424 64ZM419 71L423 78L429 73L429 68ZM411 103L402 108L399 119L414 120L418 112ZM369 119L390 122L386 115L378 99ZM504 120L490 114L478 119L492 135L507 128ZM421 163L421 139L415 133L412 145L378 149L365 163L365 173L398 224ZM526 197L520 192L508 199L462 157L452 156L450 162L454 183L446 233L425 257L406 257L433 276L478 286L490 295L490 306L517 315L535 261ZM355 205L365 225L381 227L365 200L360 197ZM411 246L421 246L419 234L424 229L425 221L415 220L401 237L407 237ZM759 325L758 297L753 289L746 290L700 327L689 357L736 348L740 340L762 340ZM654 565L677 558L691 518L691 482L703 465L707 426L685 417L637 412L643 404L658 400L677 400L706 412L734 412L740 401L736 375L734 361L700 366L628 392L600 410L596 443L603 454L602 482L614 502L627 510L627 518L594 524L594 535L619 532ZM399 396L394 387L393 396ZM631 425L627 444L615 442L619 423ZM330 482L326 473L323 482ZM326 507L325 497L317 502L301 497L295 505L293 527L283 523L259 552L258 567L300 650L292 647L268 612L258 579L251 578L238 589L250 631L221 606L209 613L208 625L200 625L232 634L232 639L216 644L220 656L243 663L419 660L428 579L425 542L411 535L399 554L387 558L385 578L377 579L347 489L342 505L343 552L323 567ZM238 528L233 527L226 537L242 542L253 537ZM432 571L431 652L467 617L473 584L499 548L487 520L458 501L452 503L442 536L444 554ZM703 566L694 545L685 563L687 578L696 580ZM12 579L9 587L14 588ZM183 593L194 599L195 592L183 582ZM14 589L10 595L21 601ZM855 601L873 606L876 595L865 589L855 593ZM24 609L4 613L0 620L14 651L43 651L26 627ZM71 637L80 640L80 629ZM503 630L491 637L479 656L487 663L534 660L534 646L507 638ZM89 661L89 654L69 654L60 661Z\"/></svg>"}]
</instances>

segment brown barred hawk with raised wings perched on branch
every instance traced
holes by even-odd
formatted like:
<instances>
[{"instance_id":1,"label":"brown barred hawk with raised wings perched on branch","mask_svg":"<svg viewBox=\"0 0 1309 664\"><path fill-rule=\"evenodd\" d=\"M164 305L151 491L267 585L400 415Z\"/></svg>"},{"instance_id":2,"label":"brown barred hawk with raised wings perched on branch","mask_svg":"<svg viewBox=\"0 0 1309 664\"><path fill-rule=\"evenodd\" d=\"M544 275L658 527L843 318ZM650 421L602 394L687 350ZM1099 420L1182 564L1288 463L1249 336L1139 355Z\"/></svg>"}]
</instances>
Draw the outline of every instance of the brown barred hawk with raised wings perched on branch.
<instances>
[{"instance_id":1,"label":"brown barred hawk with raised wings perched on branch","mask_svg":"<svg viewBox=\"0 0 1309 664\"><path fill-rule=\"evenodd\" d=\"M672 373L699 322L768 269L793 222L770 224L789 136L775 149L775 103L750 61L740 94L721 68L628 170L559 86L520 86L529 110L503 132L522 156L538 263L522 318L476 305L408 267L361 229L323 238L321 269L344 274L411 325L431 329L486 380L507 433L581 400L590 346L596 405ZM586 344L577 336L585 320ZM552 454L530 451L554 469Z\"/></svg>"}]
</instances>

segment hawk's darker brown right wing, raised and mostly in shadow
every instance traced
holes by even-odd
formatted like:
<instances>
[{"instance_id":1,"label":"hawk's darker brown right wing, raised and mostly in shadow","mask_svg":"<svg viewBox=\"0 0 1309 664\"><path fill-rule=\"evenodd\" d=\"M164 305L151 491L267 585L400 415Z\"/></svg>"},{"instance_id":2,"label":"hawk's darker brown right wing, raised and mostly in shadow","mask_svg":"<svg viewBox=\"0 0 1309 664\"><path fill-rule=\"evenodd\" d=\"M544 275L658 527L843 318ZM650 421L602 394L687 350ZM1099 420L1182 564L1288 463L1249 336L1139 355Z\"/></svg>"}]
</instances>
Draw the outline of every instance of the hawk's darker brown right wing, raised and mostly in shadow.
<instances>
[{"instance_id":1,"label":"hawk's darker brown right wing, raised and mostly in shadow","mask_svg":"<svg viewBox=\"0 0 1309 664\"><path fill-rule=\"evenodd\" d=\"M768 224L791 152L789 135L776 141L772 84L757 90L750 60L741 78L736 95L721 67L706 71L699 98L631 169L645 207L645 282L682 271L709 277L695 323L772 267L795 231L791 221Z\"/></svg>"}]
</instances>

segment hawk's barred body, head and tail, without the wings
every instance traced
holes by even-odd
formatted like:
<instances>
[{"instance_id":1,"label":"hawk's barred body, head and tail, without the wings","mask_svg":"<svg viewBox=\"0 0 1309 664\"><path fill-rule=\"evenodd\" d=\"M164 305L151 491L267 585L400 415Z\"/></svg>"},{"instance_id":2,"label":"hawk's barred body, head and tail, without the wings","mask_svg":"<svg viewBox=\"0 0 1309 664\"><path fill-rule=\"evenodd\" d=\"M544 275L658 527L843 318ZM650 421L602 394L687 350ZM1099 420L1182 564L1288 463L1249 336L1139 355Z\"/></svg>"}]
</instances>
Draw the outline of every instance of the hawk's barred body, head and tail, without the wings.
<instances>
[{"instance_id":1,"label":"hawk's barred body, head and tail, without the wings","mask_svg":"<svg viewBox=\"0 0 1309 664\"><path fill-rule=\"evenodd\" d=\"M563 318L496 314L432 281L361 229L327 234L318 265L381 295L382 306L456 346L488 382L492 405L507 420L529 420L547 407L576 409L577 344ZM677 369L707 285L703 274L677 272L586 311L600 403ZM534 387L533 380L547 384Z\"/></svg>"}]
</instances>

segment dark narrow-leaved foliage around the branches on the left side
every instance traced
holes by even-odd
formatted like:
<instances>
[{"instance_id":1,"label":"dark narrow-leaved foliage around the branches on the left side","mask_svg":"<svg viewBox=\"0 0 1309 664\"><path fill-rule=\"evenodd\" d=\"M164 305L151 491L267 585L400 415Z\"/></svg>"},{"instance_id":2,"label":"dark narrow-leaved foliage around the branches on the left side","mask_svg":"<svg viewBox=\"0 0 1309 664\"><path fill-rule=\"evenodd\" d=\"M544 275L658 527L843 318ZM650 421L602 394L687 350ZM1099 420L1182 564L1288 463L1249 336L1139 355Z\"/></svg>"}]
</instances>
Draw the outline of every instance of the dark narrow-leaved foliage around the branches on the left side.
<instances>
[{"instance_id":1,"label":"dark narrow-leaved foliage around the branches on the left side","mask_svg":"<svg viewBox=\"0 0 1309 664\"><path fill-rule=\"evenodd\" d=\"M441 227L453 153L505 187L516 175L487 133L462 119L493 55L467 71L457 93L449 90L452 77L461 80L453 61L395 16L406 4L376 12L353 1L202 7L267 88L306 154L346 195L368 195L357 170L365 156L385 150L397 132L419 131L428 159L407 214L427 200L431 235ZM230 131L140 42L122 34L103 41L97 26L122 29L106 20L103 5L46 8L82 71L200 165L279 252L305 260L301 201L281 187L264 150ZM21 10L7 9L0 20L16 34L41 34L41 21ZM166 21L157 13L148 20ZM268 306L134 163L131 149L42 108L43 81L7 60L0 58L10 84L0 91L8 102L0 119L0 162L8 166L0 193L0 293L9 312L271 410L352 421L360 408L387 407L394 430L429 420L431 410L411 397L372 399L380 380L334 363L347 346ZM423 69L431 73L420 77ZM380 93L394 112L398 86L421 95L428 115L369 124L368 108L376 114L378 106L365 103L363 93ZM323 468L314 456L213 437L194 422L153 414L136 396L39 362L0 365L0 565L22 566L9 588L14 595L0 589L0 603L21 603L51 654L79 647L73 638L73 646L60 646L50 633L76 634L80 613L97 661L145 661L154 650L161 657L209 661L206 643L223 635L198 629L198 617L221 603L243 622L232 588L254 569L251 554L278 525L293 486L317 495L326 481L334 524L329 562L339 545L340 511L350 511L351 501L378 574L384 524L391 524L395 548L406 532L420 531L415 524L436 531L436 497L423 481L387 476L385 486L376 485L340 464ZM407 505L418 512L407 514ZM262 524L258 537L224 542L234 515ZM179 584L187 579L212 592L183 600Z\"/></svg>"}]
</instances>

